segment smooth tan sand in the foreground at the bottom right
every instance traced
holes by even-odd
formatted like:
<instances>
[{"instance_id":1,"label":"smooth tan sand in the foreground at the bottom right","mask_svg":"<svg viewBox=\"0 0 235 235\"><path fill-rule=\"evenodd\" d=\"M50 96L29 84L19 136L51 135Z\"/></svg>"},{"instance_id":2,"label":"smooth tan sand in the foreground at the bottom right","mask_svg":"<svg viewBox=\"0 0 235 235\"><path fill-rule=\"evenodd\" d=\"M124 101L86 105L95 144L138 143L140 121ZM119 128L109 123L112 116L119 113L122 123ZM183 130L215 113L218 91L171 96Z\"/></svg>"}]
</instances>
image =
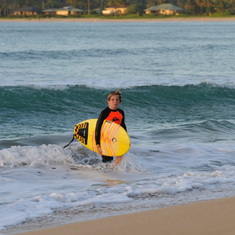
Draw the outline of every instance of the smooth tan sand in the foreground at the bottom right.
<instances>
[{"instance_id":1,"label":"smooth tan sand in the foreground at the bottom right","mask_svg":"<svg viewBox=\"0 0 235 235\"><path fill-rule=\"evenodd\" d=\"M209 200L21 235L234 235L235 198Z\"/></svg>"}]
</instances>

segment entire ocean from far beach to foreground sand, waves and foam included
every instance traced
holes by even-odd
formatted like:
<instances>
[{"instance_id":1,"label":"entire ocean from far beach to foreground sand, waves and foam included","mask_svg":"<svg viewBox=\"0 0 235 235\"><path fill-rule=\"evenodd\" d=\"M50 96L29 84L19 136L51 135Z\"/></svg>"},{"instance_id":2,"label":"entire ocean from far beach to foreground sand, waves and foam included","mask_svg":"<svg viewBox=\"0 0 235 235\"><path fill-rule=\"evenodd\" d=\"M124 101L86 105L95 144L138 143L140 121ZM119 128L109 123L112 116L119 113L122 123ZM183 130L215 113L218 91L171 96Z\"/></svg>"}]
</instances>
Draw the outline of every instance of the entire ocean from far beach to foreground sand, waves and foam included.
<instances>
[{"instance_id":1,"label":"entire ocean from far beach to foreground sand, waves and foam included","mask_svg":"<svg viewBox=\"0 0 235 235\"><path fill-rule=\"evenodd\" d=\"M0 23L0 233L235 196L235 23ZM74 141L120 89L122 162Z\"/></svg>"}]
</instances>

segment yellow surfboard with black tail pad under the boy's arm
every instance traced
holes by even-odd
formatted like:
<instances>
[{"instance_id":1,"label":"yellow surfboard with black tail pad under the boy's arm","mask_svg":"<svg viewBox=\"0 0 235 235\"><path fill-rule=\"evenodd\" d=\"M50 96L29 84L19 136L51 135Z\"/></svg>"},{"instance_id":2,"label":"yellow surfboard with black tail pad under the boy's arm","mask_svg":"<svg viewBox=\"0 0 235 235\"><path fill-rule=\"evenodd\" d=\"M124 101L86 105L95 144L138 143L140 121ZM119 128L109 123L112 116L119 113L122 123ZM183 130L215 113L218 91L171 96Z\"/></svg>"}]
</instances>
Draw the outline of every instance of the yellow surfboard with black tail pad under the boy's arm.
<instances>
[{"instance_id":1,"label":"yellow surfboard with black tail pad under the boy's arm","mask_svg":"<svg viewBox=\"0 0 235 235\"><path fill-rule=\"evenodd\" d=\"M89 119L75 125L74 137L86 148L98 153L95 141L96 122L97 119ZM122 156L130 149L130 137L122 126L106 120L101 128L100 146L103 155Z\"/></svg>"}]
</instances>

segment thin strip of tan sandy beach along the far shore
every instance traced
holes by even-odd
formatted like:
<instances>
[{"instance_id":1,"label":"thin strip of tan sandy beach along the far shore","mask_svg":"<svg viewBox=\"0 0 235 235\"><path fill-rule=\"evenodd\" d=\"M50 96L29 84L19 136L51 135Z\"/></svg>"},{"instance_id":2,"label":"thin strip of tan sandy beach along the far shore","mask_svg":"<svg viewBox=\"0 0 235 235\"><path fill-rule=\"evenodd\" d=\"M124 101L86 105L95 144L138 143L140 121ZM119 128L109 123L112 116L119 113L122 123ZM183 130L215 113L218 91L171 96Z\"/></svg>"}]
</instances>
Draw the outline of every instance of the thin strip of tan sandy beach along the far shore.
<instances>
[{"instance_id":1,"label":"thin strip of tan sandy beach along the far shore","mask_svg":"<svg viewBox=\"0 0 235 235\"><path fill-rule=\"evenodd\" d=\"M105 19L105 18L17 18L4 19L1 22L229 22L235 21L234 17L169 17L152 19Z\"/></svg>"}]
</instances>

